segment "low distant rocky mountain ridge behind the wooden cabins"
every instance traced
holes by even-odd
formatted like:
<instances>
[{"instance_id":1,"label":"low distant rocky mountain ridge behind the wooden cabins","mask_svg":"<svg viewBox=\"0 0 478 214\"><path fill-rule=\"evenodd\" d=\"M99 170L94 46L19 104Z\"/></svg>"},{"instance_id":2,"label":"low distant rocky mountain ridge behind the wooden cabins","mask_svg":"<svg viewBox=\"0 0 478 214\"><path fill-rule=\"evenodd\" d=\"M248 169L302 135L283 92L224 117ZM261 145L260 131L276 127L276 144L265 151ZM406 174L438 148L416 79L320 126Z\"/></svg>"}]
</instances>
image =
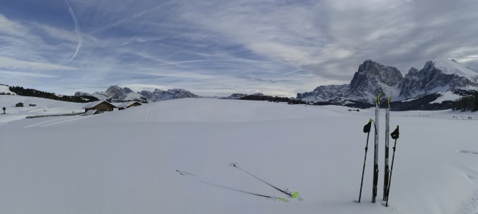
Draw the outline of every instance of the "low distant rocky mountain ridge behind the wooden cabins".
<instances>
[{"instance_id":1,"label":"low distant rocky mountain ridge behind the wooden cabins","mask_svg":"<svg viewBox=\"0 0 478 214\"><path fill-rule=\"evenodd\" d=\"M190 91L186 91L184 89L169 89L168 91L163 91L160 89L156 89L155 91L141 91L141 92L133 92L130 88L121 88L119 86L110 86L104 92L95 92L91 93L84 93L84 92L76 92L75 96L95 96L100 100L111 100L113 102L123 102L123 101L140 101L143 103L148 103L148 101L166 101L170 99L177 99L177 98L198 98L199 96L195 95L194 93L190 93Z\"/></svg>"}]
</instances>

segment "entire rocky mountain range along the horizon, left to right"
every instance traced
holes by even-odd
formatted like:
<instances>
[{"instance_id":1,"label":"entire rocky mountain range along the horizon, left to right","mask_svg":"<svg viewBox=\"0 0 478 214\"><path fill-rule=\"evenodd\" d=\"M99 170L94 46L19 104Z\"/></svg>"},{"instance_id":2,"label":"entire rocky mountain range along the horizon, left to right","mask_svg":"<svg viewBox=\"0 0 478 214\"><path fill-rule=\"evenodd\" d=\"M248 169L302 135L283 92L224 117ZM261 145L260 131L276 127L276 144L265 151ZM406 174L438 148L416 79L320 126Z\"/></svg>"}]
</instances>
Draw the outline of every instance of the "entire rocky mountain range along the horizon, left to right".
<instances>
[{"instance_id":1,"label":"entire rocky mountain range along the horizon, left to right","mask_svg":"<svg viewBox=\"0 0 478 214\"><path fill-rule=\"evenodd\" d=\"M55 93L1 86L4 88L2 89L4 94L14 90L12 93L24 96L45 94L45 98L64 98L64 96L56 96ZM478 73L453 59L434 57L431 61L427 61L420 70L410 68L404 77L397 68L384 66L368 59L358 66L350 83L317 86L313 91L298 93L296 99L319 105L332 104L368 108L375 106L375 98L378 93L382 93L384 98L392 96L392 110L395 111L454 108L460 98L464 96L478 97ZM257 95L263 96L262 93ZM234 93L225 98L237 99L244 96L246 94ZM110 86L104 92L97 91L93 94L78 91L70 99L81 102L98 98L98 100L111 102L140 101L148 103L198 97L185 89L176 88L167 91L155 89L155 91L134 92L127 87ZM385 100L383 99L382 102ZM474 101L471 102L474 103ZM478 105L478 101L476 105Z\"/></svg>"}]
</instances>

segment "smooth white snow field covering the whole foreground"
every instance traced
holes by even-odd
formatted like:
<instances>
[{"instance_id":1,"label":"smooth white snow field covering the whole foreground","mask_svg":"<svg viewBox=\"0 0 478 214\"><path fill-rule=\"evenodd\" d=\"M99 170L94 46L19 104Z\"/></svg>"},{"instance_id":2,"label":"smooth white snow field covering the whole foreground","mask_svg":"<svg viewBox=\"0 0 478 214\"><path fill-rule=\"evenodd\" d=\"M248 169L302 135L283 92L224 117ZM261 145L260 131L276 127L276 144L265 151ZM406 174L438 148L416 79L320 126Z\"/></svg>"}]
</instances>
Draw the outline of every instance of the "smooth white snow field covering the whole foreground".
<instances>
[{"instance_id":1,"label":"smooth white snow field covering the whole foreground","mask_svg":"<svg viewBox=\"0 0 478 214\"><path fill-rule=\"evenodd\" d=\"M0 103L20 98L0 96ZM83 106L32 101L68 111ZM362 203L354 202L367 138L362 127L375 109L348 109L184 98L94 116L19 119L11 116L26 113L11 111L0 115L1 213L478 212L477 114L390 113L400 138L385 207L384 133L377 203L370 203L373 134ZM380 117L382 132L384 110ZM287 197L233 162L298 190L303 200L282 203L219 187Z\"/></svg>"}]
</instances>

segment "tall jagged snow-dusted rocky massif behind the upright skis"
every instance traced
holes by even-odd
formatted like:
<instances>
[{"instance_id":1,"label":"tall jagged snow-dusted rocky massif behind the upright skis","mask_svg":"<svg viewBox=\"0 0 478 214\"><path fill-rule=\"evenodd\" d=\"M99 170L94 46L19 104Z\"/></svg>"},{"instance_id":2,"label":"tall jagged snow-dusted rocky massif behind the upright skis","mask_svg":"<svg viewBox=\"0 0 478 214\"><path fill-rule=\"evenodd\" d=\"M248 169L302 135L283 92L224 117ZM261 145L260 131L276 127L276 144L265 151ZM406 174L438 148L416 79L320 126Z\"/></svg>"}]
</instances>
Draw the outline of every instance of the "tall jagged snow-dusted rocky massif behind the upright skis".
<instances>
[{"instance_id":1,"label":"tall jagged snow-dusted rocky massif behind the upright skis","mask_svg":"<svg viewBox=\"0 0 478 214\"><path fill-rule=\"evenodd\" d=\"M375 96L383 93L392 96L395 101L420 98L436 94L463 93L478 91L478 73L455 60L434 57L427 61L421 70L410 68L402 73L392 66L383 66L375 61L366 60L355 72L350 84L318 86L311 92L298 93L297 98L304 101L342 103L375 103ZM448 96L456 100L460 96ZM435 98L435 99L436 99ZM444 98L440 99L444 101Z\"/></svg>"}]
</instances>

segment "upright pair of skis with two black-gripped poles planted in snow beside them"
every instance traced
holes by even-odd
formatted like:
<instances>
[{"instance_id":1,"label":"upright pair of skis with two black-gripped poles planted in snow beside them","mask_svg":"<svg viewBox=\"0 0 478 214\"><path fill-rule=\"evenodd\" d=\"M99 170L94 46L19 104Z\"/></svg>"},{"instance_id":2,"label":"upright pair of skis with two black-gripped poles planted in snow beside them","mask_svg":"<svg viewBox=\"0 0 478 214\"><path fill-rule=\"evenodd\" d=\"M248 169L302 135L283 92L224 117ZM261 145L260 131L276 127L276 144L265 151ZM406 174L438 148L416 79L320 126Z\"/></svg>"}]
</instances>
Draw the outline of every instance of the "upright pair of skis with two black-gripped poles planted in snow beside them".
<instances>
[{"instance_id":1,"label":"upright pair of skis with two black-gripped poles planted in snow beside them","mask_svg":"<svg viewBox=\"0 0 478 214\"><path fill-rule=\"evenodd\" d=\"M379 96L377 97L377 106L378 106L378 102L380 101L380 94ZM388 99L388 106L387 106L387 123L388 123L388 110L390 109L390 98ZM377 113L377 112L376 112ZM370 118L370 121L364 126L363 128L363 132L364 133L367 133L367 144L365 146L365 157L364 157L364 162L363 162L363 168L362 168L362 181L360 182L360 194L359 194L359 200L358 200L358 203L360 203L360 199L362 198L362 186L363 186L363 177L364 177L364 173L365 173L365 162L367 160L367 150L368 150L368 139L369 139L369 136L370 136L370 129L372 127L372 122L374 123L374 128L375 128L375 136L377 137L377 125L375 124L375 121L372 120L372 118ZM387 135L388 135L388 124L387 124L387 131L386 131ZM399 137L399 126L397 126L397 128L395 128L395 131L393 131L390 136L392 137L392 139L395 140L395 145L393 146L393 156L392 156L392 167L390 169L390 174L388 174L388 151L385 152L385 158L387 159L386 160L386 166L385 166L385 173L387 175L385 175L385 186L384 186L384 200L387 200L387 203L385 204L385 206L388 206L388 195L390 193L390 182L392 181L392 170L393 170L393 163L395 161L395 148L397 146L397 138ZM388 137L388 136L387 136ZM377 138L375 139L377 143ZM386 150L388 150L388 141L386 141ZM373 195L372 195L372 203L375 203L375 196L377 195L377 177L378 177L378 167L377 167L377 144L375 145L375 165L374 165L374 182L373 182Z\"/></svg>"}]
</instances>

